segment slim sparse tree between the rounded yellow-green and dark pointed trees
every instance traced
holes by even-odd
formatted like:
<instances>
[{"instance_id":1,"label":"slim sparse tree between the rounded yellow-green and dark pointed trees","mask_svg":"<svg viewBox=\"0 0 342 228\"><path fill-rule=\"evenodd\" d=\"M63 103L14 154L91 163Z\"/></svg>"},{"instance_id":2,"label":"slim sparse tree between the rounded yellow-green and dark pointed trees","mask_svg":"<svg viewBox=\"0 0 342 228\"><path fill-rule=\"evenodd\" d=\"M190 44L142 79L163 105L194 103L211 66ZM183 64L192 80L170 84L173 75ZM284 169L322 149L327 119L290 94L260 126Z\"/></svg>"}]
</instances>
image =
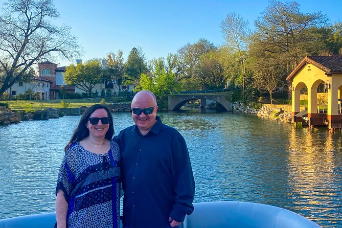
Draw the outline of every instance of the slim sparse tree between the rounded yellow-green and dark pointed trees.
<instances>
[{"instance_id":1,"label":"slim sparse tree between the rounded yellow-green and dark pointed trees","mask_svg":"<svg viewBox=\"0 0 342 228\"><path fill-rule=\"evenodd\" d=\"M104 74L108 80L114 82L114 86L119 89L120 94L122 86L127 80L127 75L125 74L125 60L123 58L123 51L119 50L118 54L108 54Z\"/></svg>"}]
</instances>

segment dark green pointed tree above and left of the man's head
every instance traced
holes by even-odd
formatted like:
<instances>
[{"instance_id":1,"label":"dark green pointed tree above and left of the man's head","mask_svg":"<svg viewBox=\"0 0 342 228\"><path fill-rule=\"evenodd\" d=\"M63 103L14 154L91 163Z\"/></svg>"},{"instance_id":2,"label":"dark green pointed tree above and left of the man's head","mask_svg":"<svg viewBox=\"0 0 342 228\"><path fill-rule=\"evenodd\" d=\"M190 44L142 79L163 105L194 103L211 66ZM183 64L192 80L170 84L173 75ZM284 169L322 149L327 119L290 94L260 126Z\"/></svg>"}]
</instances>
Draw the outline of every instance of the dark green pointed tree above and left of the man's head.
<instances>
[{"instance_id":1,"label":"dark green pointed tree above and left of the man's head","mask_svg":"<svg viewBox=\"0 0 342 228\"><path fill-rule=\"evenodd\" d=\"M133 48L130 51L125 64L125 71L128 76L128 81L136 82L142 73L147 72L145 60L146 58L141 48Z\"/></svg>"}]
</instances>

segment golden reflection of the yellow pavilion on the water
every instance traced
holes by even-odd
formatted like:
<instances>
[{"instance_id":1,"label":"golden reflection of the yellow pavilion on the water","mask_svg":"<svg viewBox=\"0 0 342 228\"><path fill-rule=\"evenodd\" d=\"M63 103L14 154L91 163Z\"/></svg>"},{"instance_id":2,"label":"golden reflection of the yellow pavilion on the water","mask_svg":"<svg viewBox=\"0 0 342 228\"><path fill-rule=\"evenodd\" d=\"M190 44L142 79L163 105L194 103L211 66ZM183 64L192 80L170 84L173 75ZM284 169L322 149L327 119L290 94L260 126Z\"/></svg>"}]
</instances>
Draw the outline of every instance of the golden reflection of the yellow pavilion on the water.
<instances>
[{"instance_id":1,"label":"golden reflection of the yellow pavilion on the water","mask_svg":"<svg viewBox=\"0 0 342 228\"><path fill-rule=\"evenodd\" d=\"M336 225L342 220L342 188L335 184L341 182L340 173L336 173L341 166L340 152L335 148L339 139L340 134L324 128L292 128L288 148L291 207L310 214L310 219L324 216L329 224Z\"/></svg>"}]
</instances>

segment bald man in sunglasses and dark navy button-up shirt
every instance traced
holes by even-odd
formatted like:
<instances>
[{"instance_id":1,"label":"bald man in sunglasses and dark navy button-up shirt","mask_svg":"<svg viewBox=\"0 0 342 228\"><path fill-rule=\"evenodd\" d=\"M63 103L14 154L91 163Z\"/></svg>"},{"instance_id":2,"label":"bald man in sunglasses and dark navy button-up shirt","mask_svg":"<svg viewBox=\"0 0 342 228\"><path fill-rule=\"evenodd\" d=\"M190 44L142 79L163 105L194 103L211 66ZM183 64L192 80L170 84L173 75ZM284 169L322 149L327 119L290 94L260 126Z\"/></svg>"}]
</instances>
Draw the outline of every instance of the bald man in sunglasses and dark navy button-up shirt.
<instances>
[{"instance_id":1,"label":"bald man in sunglasses and dark navy button-up shirt","mask_svg":"<svg viewBox=\"0 0 342 228\"><path fill-rule=\"evenodd\" d=\"M156 116L150 91L137 93L131 108L135 125L115 137L122 154L123 225L178 226L194 210L195 181L186 142Z\"/></svg>"}]
</instances>

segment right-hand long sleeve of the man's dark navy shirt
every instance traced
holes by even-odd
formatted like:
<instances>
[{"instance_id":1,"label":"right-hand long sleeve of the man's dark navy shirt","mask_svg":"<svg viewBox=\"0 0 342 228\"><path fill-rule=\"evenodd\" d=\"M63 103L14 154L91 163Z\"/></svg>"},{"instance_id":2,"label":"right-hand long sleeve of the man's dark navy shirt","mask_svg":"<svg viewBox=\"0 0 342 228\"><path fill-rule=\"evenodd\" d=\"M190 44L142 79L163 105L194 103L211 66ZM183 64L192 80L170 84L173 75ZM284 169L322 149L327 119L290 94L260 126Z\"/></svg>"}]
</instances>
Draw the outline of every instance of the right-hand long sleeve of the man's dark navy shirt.
<instances>
[{"instance_id":1,"label":"right-hand long sleeve of the man's dark navy shirt","mask_svg":"<svg viewBox=\"0 0 342 228\"><path fill-rule=\"evenodd\" d=\"M172 181L176 193L175 204L170 217L177 222L183 222L186 215L190 215L194 206L195 180L192 173L187 144L176 132L171 145L172 150Z\"/></svg>"}]
</instances>

